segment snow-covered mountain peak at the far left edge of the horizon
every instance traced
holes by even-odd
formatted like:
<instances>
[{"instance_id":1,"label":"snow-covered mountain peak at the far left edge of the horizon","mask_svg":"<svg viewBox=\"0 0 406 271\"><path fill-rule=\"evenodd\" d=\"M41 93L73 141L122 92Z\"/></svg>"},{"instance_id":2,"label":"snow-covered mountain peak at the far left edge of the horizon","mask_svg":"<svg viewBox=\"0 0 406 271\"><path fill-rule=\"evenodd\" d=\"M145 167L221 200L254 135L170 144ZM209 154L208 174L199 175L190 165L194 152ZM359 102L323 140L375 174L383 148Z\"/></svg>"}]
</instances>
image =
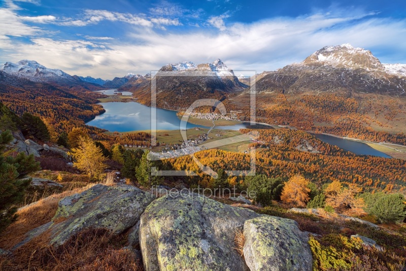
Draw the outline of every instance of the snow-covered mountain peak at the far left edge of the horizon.
<instances>
[{"instance_id":1,"label":"snow-covered mountain peak at the far left edge of the horizon","mask_svg":"<svg viewBox=\"0 0 406 271\"><path fill-rule=\"evenodd\" d=\"M35 82L69 80L76 81L72 76L58 69L49 69L37 61L21 60L17 63L6 62L0 70L17 77L25 78Z\"/></svg>"}]
</instances>

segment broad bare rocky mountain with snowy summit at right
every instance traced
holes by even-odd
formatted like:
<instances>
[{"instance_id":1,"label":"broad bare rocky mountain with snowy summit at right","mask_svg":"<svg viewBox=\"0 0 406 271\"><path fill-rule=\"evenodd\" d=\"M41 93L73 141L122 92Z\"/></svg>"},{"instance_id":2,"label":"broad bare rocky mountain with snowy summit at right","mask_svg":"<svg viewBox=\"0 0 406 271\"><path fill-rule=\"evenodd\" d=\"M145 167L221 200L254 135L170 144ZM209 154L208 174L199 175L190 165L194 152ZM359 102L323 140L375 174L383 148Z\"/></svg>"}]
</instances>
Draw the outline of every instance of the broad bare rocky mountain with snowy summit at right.
<instances>
[{"instance_id":1,"label":"broad bare rocky mountain with snowy summit at right","mask_svg":"<svg viewBox=\"0 0 406 271\"><path fill-rule=\"evenodd\" d=\"M406 78L398 72L388 73L387 67L368 50L349 44L326 46L300 63L260 74L256 90L259 93L316 91L405 96Z\"/></svg>"}]
</instances>

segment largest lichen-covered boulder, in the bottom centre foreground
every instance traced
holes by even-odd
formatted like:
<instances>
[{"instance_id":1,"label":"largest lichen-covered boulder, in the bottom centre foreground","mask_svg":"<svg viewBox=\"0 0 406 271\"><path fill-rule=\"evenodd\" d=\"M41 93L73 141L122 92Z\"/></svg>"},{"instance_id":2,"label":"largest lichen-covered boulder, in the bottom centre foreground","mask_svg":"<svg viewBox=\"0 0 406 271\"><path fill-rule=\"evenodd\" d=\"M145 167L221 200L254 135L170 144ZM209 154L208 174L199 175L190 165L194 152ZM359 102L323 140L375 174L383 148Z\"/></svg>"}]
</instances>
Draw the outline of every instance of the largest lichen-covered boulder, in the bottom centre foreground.
<instances>
[{"instance_id":1,"label":"largest lichen-covered boulder, in the bottom centre foreground","mask_svg":"<svg viewBox=\"0 0 406 271\"><path fill-rule=\"evenodd\" d=\"M197 194L170 193L156 199L141 216L144 268L248 270L235 250L235 230L258 216Z\"/></svg>"}]
</instances>

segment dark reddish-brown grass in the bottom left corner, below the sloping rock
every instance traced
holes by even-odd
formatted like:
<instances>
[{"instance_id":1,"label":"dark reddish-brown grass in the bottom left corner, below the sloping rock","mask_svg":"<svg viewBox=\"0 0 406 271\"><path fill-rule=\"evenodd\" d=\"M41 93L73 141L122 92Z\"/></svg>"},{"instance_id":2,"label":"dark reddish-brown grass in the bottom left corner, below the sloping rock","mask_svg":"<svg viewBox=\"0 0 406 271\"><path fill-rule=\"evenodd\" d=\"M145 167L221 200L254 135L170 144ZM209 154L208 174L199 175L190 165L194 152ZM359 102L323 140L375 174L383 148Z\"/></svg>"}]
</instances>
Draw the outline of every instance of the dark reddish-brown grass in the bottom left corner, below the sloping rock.
<instances>
[{"instance_id":1,"label":"dark reddish-brown grass in the bottom left corner, below the sloping rock","mask_svg":"<svg viewBox=\"0 0 406 271\"><path fill-rule=\"evenodd\" d=\"M86 229L55 248L49 246L46 232L18 248L12 257L3 256L0 269L141 271L137 254L122 249L122 243L122 236L112 237L106 229Z\"/></svg>"}]
</instances>

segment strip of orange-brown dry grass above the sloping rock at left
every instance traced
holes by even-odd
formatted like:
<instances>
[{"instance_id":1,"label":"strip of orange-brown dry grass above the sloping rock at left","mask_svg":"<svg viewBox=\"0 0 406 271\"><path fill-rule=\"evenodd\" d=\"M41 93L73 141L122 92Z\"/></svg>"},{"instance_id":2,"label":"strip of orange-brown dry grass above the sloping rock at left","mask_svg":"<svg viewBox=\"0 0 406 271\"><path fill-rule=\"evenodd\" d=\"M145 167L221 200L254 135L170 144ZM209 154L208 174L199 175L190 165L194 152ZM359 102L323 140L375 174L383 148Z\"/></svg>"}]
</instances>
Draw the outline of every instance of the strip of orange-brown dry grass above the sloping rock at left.
<instances>
[{"instance_id":1,"label":"strip of orange-brown dry grass above the sloping rock at left","mask_svg":"<svg viewBox=\"0 0 406 271\"><path fill-rule=\"evenodd\" d=\"M17 212L17 220L8 226L0 235L0 248L11 249L23 241L28 231L51 221L58 209L60 199L83 192L93 185L94 184L90 184L86 187L73 188L69 191L51 195L20 208Z\"/></svg>"}]
</instances>

